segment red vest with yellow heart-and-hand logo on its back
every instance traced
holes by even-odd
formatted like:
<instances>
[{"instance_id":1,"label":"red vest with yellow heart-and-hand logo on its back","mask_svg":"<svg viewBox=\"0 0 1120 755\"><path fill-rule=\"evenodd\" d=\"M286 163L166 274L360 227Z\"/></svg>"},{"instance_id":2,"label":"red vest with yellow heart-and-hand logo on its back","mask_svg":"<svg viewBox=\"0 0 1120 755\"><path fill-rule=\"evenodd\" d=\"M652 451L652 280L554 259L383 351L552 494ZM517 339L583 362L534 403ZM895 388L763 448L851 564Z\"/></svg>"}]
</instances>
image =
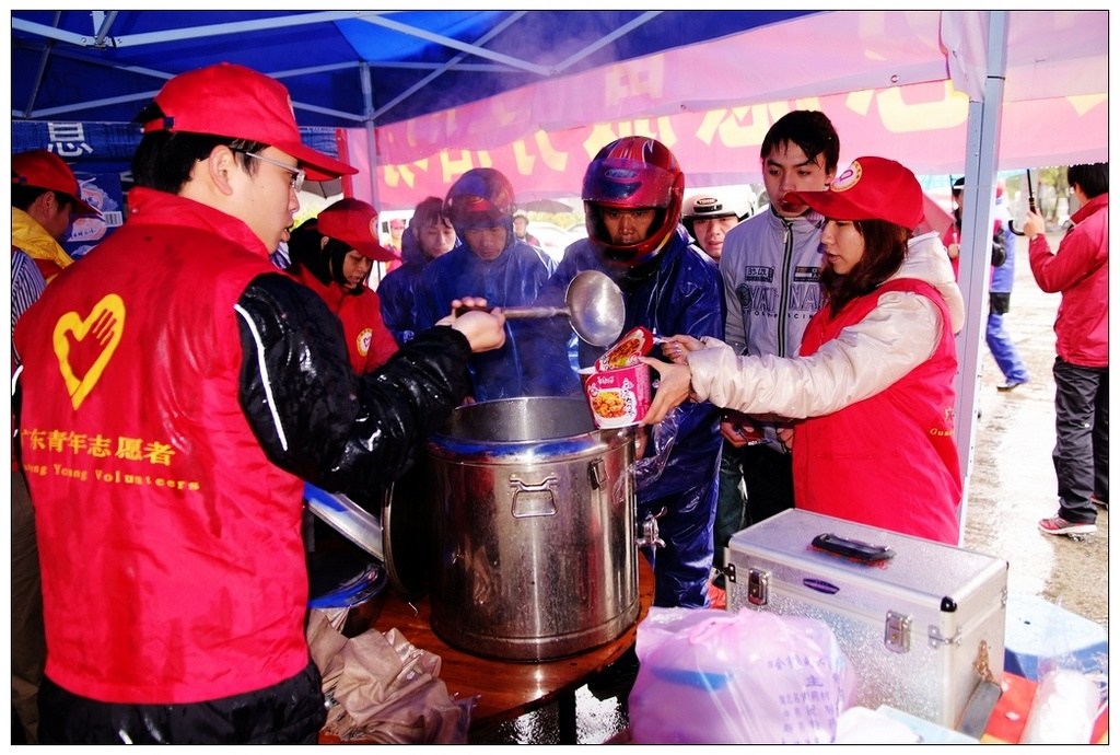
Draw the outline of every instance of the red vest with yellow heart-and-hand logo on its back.
<instances>
[{"instance_id":1,"label":"red vest with yellow heart-and-hand logo on its back","mask_svg":"<svg viewBox=\"0 0 1120 755\"><path fill-rule=\"evenodd\" d=\"M302 482L239 404L234 305L277 272L246 225L137 188L129 222L20 320L46 673L186 703L301 671Z\"/></svg>"}]
</instances>

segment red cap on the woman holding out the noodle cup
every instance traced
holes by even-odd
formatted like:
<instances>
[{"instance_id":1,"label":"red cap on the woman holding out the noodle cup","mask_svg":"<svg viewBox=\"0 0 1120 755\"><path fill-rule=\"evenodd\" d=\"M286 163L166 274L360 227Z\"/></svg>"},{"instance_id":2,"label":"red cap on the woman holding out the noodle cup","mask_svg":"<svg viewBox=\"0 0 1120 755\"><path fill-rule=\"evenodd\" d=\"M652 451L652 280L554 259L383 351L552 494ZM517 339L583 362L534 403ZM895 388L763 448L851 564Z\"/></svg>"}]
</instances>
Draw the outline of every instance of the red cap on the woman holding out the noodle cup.
<instances>
[{"instance_id":1,"label":"red cap on the woman holding out the noodle cup","mask_svg":"<svg viewBox=\"0 0 1120 755\"><path fill-rule=\"evenodd\" d=\"M887 221L913 231L925 217L922 186L900 162L859 157L824 192L791 192L791 204L806 204L838 221Z\"/></svg>"}]
</instances>

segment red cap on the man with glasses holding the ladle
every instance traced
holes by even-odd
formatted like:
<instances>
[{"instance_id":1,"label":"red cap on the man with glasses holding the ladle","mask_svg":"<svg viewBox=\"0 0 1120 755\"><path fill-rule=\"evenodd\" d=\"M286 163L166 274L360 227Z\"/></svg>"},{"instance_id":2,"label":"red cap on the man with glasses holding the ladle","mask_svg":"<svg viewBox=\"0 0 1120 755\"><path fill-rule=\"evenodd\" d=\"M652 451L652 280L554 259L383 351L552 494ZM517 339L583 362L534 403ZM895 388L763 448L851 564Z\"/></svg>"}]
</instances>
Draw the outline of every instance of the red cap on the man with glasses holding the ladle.
<instances>
[{"instance_id":1,"label":"red cap on the man with glasses holding the ladle","mask_svg":"<svg viewBox=\"0 0 1120 755\"><path fill-rule=\"evenodd\" d=\"M271 145L299 160L311 180L357 173L300 141L287 87L252 68L218 63L188 71L164 84L156 104L165 118L144 123L144 133L188 131Z\"/></svg>"}]
</instances>

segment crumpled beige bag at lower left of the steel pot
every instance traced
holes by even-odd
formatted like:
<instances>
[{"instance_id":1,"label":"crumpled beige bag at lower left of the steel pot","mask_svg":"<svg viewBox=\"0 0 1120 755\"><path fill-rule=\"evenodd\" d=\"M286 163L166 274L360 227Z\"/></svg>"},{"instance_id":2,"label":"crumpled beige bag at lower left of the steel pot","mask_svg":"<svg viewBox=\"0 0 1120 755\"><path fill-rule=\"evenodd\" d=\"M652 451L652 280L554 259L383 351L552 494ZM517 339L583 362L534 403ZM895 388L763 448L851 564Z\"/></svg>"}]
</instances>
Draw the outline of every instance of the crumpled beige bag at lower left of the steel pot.
<instances>
[{"instance_id":1,"label":"crumpled beige bag at lower left of the steel pot","mask_svg":"<svg viewBox=\"0 0 1120 755\"><path fill-rule=\"evenodd\" d=\"M439 655L395 628L346 637L318 609L310 612L307 640L327 698L323 734L371 744L466 744L477 698L450 697Z\"/></svg>"}]
</instances>

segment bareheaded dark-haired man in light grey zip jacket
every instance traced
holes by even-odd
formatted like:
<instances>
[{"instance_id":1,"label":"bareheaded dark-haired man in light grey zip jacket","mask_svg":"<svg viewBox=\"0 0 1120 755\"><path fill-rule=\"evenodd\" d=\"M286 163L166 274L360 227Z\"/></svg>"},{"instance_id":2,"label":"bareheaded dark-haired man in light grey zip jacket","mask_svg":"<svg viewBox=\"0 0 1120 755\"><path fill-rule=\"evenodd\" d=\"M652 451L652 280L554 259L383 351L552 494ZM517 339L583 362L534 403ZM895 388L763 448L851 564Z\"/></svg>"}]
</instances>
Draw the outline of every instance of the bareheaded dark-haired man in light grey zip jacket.
<instances>
[{"instance_id":1,"label":"bareheaded dark-haired man in light grey zip jacket","mask_svg":"<svg viewBox=\"0 0 1120 755\"><path fill-rule=\"evenodd\" d=\"M728 232L719 262L726 339L740 354L796 356L805 325L821 304L823 218L806 205L787 205L784 197L828 188L840 159L840 138L824 113L795 110L771 127L759 156L769 207ZM724 412L720 431L735 454L725 459L720 478L717 563L739 529L793 507L790 451L778 436L781 427L764 417ZM752 439L757 436L760 441ZM725 446L724 453L731 450ZM747 491L745 505L738 470ZM743 512L738 526L737 506Z\"/></svg>"}]
</instances>

